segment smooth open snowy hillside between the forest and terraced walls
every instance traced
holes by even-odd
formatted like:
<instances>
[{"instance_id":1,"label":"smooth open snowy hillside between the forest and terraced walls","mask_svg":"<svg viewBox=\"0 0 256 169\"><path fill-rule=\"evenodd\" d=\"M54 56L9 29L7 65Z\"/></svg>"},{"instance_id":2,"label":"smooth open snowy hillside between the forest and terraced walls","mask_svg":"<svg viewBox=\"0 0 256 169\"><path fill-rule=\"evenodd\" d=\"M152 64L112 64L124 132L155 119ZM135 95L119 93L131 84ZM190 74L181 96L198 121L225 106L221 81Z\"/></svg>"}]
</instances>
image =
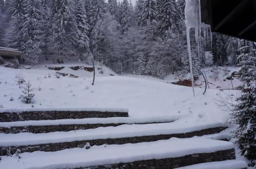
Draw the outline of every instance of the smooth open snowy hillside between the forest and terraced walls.
<instances>
[{"instance_id":1,"label":"smooth open snowy hillside between the forest and terraced walls","mask_svg":"<svg viewBox=\"0 0 256 169\"><path fill-rule=\"evenodd\" d=\"M62 66L62 65L61 65ZM92 86L93 73L77 70L63 65L60 71L49 70L49 66L36 66L32 69L9 69L0 67L0 104L4 108L30 107L104 107L127 108L131 117L173 116L183 120L198 122L225 122L227 114L216 101L222 95L219 90L208 90L202 95L202 89L196 90L194 98L191 88L171 85L157 80L140 79L126 76L111 76L113 72L103 68L104 74L96 74ZM74 66L74 65L73 65ZM56 72L69 75L57 76ZM97 72L97 71L96 71ZM24 104L19 98L16 78L21 74L26 82L32 83L35 97L33 104ZM114 74L114 73L113 73ZM25 82L25 83L26 83ZM237 91L224 91L238 95ZM13 101L10 99L13 98Z\"/></svg>"}]
</instances>

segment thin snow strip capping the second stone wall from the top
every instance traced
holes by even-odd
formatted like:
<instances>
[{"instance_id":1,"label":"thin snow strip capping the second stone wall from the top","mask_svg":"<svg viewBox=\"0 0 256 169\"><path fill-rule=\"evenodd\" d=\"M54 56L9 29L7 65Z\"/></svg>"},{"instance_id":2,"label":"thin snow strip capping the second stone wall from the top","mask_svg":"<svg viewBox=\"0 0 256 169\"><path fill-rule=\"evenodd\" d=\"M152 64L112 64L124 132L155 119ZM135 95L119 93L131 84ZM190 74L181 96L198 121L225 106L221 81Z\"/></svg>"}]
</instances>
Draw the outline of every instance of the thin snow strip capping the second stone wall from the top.
<instances>
[{"instance_id":1,"label":"thin snow strip capping the second stone wall from the top","mask_svg":"<svg viewBox=\"0 0 256 169\"><path fill-rule=\"evenodd\" d=\"M46 126L46 125L70 125L70 124L145 124L145 123L168 123L177 120L177 117L145 117L145 118L88 118L88 119L62 119L62 120L40 120L0 122L0 127L20 126Z\"/></svg>"}]
</instances>

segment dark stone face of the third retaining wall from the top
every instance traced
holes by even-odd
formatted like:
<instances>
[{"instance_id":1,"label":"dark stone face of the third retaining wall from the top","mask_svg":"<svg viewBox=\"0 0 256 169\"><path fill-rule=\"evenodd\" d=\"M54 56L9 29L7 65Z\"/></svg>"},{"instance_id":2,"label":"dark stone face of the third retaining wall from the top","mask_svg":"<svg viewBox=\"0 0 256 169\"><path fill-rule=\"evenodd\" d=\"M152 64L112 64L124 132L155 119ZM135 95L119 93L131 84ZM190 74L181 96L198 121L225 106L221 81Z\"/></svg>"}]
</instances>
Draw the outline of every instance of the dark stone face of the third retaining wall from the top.
<instances>
[{"instance_id":1,"label":"dark stone face of the third retaining wall from the top","mask_svg":"<svg viewBox=\"0 0 256 169\"><path fill-rule=\"evenodd\" d=\"M12 147L0 147L0 156L7 155L7 150L10 148L12 154L19 149L21 152L34 152L34 151L59 151L69 148L83 148L86 143L94 145L121 145L127 143L142 143L142 142L155 142L157 140L169 139L172 137L188 138L193 136L202 136L207 134L215 134L225 130L227 127L216 127L209 128L200 131L180 133L180 134L166 134L166 135L150 135L150 136L138 136L138 137L124 137L124 138L108 138L108 139L94 139L94 140L82 140L67 143L53 143L53 144L40 144L40 145L29 145L29 146L12 146Z\"/></svg>"}]
</instances>

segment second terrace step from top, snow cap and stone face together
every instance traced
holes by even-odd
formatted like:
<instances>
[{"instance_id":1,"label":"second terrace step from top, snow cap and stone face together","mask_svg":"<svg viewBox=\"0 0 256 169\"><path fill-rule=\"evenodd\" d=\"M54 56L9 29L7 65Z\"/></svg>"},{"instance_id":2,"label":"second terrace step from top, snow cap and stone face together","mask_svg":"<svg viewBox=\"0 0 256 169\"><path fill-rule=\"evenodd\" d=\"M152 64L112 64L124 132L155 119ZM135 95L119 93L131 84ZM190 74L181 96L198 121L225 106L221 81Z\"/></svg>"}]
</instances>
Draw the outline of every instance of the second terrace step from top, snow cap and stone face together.
<instances>
[{"instance_id":1,"label":"second terrace step from top, snow cap and stone face together","mask_svg":"<svg viewBox=\"0 0 256 169\"><path fill-rule=\"evenodd\" d=\"M124 124L171 123L176 117L151 118L88 118L43 121L0 122L0 133L47 133L55 131L86 130L98 127L120 126Z\"/></svg>"}]
</instances>

